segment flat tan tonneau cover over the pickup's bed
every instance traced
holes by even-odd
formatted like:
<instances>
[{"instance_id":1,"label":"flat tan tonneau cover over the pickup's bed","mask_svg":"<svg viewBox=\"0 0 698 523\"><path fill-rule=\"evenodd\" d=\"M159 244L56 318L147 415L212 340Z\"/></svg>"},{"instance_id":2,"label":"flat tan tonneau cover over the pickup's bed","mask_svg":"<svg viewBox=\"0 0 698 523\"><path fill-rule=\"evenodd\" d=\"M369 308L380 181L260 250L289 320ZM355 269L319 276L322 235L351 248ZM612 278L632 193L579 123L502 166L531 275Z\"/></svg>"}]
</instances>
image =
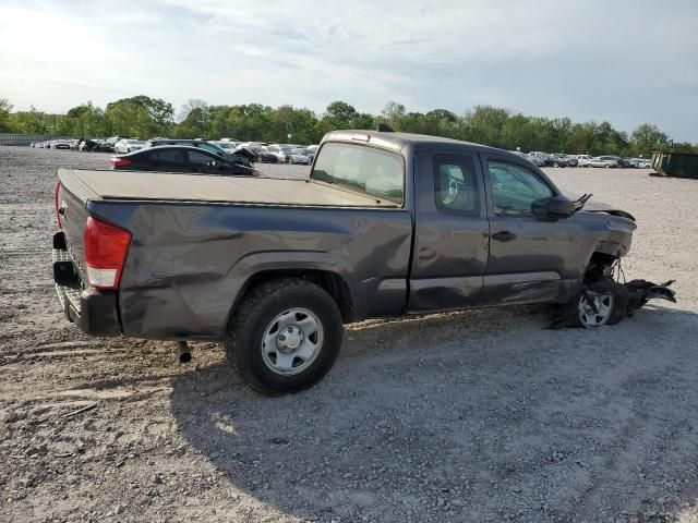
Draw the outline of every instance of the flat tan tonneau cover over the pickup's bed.
<instances>
[{"instance_id":1,"label":"flat tan tonneau cover over the pickup's bed","mask_svg":"<svg viewBox=\"0 0 698 523\"><path fill-rule=\"evenodd\" d=\"M388 200L309 180L146 171L59 169L83 199L179 200L330 207L397 207Z\"/></svg>"}]
</instances>

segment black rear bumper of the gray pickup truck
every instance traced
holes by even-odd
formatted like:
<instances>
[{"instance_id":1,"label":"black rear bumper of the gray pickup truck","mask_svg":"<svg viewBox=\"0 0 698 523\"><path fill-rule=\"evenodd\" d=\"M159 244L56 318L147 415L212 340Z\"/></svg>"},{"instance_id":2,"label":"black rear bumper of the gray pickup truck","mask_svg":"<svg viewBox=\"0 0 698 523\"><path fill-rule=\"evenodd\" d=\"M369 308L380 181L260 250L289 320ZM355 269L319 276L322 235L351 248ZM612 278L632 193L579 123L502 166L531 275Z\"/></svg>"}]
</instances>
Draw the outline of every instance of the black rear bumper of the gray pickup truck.
<instances>
[{"instance_id":1,"label":"black rear bumper of the gray pickup truck","mask_svg":"<svg viewBox=\"0 0 698 523\"><path fill-rule=\"evenodd\" d=\"M53 282L65 317L91 336L121 336L116 291L82 289L62 231L53 235Z\"/></svg>"}]
</instances>

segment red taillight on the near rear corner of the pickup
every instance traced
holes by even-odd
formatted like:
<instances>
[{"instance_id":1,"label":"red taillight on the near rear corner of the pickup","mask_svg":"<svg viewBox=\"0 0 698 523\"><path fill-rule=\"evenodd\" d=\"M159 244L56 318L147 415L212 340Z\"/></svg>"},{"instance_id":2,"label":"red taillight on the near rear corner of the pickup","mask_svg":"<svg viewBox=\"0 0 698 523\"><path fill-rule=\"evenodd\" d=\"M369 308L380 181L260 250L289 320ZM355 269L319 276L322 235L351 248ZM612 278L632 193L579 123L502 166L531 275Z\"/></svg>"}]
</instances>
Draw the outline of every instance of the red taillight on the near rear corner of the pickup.
<instances>
[{"instance_id":1,"label":"red taillight on the near rear corner of the pickup","mask_svg":"<svg viewBox=\"0 0 698 523\"><path fill-rule=\"evenodd\" d=\"M87 281L95 289L118 289L127 260L131 233L125 229L88 217L84 247Z\"/></svg>"}]
</instances>

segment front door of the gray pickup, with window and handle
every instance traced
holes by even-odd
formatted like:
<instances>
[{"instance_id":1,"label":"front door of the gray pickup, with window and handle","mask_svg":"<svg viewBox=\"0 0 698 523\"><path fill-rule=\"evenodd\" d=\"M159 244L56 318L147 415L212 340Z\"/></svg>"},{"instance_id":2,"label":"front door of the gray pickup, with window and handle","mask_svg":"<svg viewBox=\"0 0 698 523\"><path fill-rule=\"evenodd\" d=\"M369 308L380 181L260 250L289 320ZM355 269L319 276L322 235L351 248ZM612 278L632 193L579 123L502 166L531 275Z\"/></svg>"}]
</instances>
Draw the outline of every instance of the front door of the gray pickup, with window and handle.
<instances>
[{"instance_id":1,"label":"front door of the gray pickup, with window and handle","mask_svg":"<svg viewBox=\"0 0 698 523\"><path fill-rule=\"evenodd\" d=\"M526 161L481 153L490 215L490 259L481 304L535 303L565 295L583 232L575 217L533 216L531 204L559 191Z\"/></svg>"}]
</instances>

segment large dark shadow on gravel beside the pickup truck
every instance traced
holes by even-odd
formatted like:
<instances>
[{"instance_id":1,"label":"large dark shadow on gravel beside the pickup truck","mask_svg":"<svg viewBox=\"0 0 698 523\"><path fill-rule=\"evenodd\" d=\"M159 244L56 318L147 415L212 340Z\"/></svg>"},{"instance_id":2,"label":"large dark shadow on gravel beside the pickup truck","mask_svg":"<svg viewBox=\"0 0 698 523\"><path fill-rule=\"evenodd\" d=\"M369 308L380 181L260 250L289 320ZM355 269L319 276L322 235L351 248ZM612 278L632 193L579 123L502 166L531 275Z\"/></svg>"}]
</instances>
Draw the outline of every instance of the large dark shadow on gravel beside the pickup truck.
<instances>
[{"instance_id":1,"label":"large dark shadow on gravel beside the pickup truck","mask_svg":"<svg viewBox=\"0 0 698 523\"><path fill-rule=\"evenodd\" d=\"M360 324L306 392L264 398L216 364L173 378L172 409L232 487L298 518L688 510L698 315L650 307L594 331L544 321L483 311Z\"/></svg>"}]
</instances>

